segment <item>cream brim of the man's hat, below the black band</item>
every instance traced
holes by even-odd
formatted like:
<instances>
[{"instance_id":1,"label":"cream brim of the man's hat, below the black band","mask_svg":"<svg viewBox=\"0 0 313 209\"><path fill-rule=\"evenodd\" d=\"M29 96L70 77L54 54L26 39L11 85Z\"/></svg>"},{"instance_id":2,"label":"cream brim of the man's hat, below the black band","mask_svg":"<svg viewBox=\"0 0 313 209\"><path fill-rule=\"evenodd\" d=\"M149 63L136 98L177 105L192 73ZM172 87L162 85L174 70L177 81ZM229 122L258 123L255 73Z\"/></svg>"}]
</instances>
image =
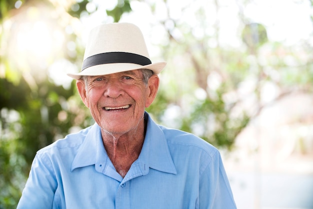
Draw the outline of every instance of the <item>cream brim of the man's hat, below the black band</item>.
<instances>
[{"instance_id":1,"label":"cream brim of the man's hat, below the black band","mask_svg":"<svg viewBox=\"0 0 313 209\"><path fill-rule=\"evenodd\" d=\"M130 70L149 69L154 74L159 74L165 67L166 62L158 62L149 65L138 65L133 63L110 63L102 65L94 65L84 69L79 73L67 73L67 75L73 79L79 80L81 76L101 76L112 73L120 73Z\"/></svg>"}]
</instances>

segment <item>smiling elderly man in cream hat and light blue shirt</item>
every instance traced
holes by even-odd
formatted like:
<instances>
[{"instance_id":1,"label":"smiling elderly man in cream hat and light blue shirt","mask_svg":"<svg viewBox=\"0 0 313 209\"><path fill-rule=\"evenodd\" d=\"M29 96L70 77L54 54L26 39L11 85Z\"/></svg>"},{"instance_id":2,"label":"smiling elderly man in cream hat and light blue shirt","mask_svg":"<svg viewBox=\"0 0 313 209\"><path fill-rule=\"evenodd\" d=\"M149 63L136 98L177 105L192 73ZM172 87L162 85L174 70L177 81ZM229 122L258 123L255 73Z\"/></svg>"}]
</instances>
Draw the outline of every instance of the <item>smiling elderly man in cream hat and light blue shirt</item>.
<instances>
[{"instance_id":1,"label":"smiling elderly man in cream hat and light blue shirt","mask_svg":"<svg viewBox=\"0 0 313 209\"><path fill-rule=\"evenodd\" d=\"M93 29L68 75L95 124L37 152L17 208L236 208L217 149L145 112L165 64L132 24Z\"/></svg>"}]
</instances>

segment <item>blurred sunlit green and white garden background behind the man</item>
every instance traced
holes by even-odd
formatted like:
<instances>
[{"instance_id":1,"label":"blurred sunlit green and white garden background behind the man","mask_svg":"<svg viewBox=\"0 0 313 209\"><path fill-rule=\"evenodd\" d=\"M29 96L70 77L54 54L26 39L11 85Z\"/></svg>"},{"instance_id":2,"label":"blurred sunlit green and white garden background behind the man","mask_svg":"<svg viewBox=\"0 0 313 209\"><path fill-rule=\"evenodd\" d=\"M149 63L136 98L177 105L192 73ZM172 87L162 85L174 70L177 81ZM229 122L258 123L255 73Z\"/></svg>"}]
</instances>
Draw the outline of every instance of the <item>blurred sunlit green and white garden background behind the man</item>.
<instances>
[{"instance_id":1,"label":"blurred sunlit green and white garden background behind the man","mask_svg":"<svg viewBox=\"0 0 313 209\"><path fill-rule=\"evenodd\" d=\"M66 73L113 22L167 62L147 111L219 148L238 209L313 208L312 0L1 0L0 208L38 149L93 123Z\"/></svg>"}]
</instances>

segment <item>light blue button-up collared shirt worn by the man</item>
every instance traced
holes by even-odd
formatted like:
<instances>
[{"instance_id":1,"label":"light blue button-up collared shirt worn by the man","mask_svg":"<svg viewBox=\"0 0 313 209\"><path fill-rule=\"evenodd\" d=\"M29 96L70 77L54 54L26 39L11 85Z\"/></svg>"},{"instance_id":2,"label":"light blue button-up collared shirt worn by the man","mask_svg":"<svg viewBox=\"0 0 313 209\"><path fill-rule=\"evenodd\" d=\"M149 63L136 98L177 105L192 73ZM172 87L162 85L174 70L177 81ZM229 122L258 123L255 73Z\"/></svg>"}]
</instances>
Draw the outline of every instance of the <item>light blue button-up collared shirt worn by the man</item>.
<instances>
[{"instance_id":1,"label":"light blue button-up collared shirt worn by the man","mask_svg":"<svg viewBox=\"0 0 313 209\"><path fill-rule=\"evenodd\" d=\"M217 149L145 114L142 150L124 178L94 124L37 152L17 208L236 208Z\"/></svg>"}]
</instances>

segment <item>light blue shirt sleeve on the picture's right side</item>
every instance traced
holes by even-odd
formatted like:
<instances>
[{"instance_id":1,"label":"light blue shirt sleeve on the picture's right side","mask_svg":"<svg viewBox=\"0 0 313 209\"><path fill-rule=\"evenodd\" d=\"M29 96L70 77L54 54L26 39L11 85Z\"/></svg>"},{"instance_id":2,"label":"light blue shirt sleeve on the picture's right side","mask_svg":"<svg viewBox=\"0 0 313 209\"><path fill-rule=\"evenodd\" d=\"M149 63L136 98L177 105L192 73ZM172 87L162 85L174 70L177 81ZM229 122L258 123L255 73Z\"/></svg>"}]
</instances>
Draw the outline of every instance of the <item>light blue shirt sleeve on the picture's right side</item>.
<instances>
[{"instance_id":1,"label":"light blue shirt sleeve on the picture's right side","mask_svg":"<svg viewBox=\"0 0 313 209\"><path fill-rule=\"evenodd\" d=\"M219 152L200 175L199 209L236 209L231 188Z\"/></svg>"}]
</instances>

